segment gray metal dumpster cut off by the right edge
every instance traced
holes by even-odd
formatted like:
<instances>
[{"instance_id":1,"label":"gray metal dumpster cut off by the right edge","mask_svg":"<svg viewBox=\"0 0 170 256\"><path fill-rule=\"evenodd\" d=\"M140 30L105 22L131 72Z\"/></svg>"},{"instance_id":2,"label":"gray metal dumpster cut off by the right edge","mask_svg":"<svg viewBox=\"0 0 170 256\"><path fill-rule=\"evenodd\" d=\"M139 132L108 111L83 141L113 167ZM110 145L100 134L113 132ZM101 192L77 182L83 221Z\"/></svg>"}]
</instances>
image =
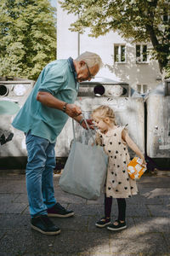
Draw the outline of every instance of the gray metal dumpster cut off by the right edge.
<instances>
[{"instance_id":1,"label":"gray metal dumpster cut off by the right edge","mask_svg":"<svg viewBox=\"0 0 170 256\"><path fill-rule=\"evenodd\" d=\"M147 154L160 159L170 158L170 94L165 85L158 85L146 99Z\"/></svg>"}]
</instances>

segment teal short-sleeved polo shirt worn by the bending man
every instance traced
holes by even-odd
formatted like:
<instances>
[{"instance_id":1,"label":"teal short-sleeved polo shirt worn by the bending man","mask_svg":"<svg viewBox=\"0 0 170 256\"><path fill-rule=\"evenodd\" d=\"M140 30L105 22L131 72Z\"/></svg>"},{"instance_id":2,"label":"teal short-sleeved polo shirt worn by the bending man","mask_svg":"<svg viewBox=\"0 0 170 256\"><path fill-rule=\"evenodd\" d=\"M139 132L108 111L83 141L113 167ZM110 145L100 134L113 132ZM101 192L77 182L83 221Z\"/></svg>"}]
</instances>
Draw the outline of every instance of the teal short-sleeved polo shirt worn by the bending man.
<instances>
[{"instance_id":1,"label":"teal short-sleeved polo shirt worn by the bending man","mask_svg":"<svg viewBox=\"0 0 170 256\"><path fill-rule=\"evenodd\" d=\"M55 143L62 131L68 115L61 110L49 108L37 101L38 91L47 91L57 99L74 103L77 98L79 83L76 79L73 60L59 60L49 63L43 68L37 83L31 90L24 106L14 118L14 128L48 139Z\"/></svg>"}]
</instances>

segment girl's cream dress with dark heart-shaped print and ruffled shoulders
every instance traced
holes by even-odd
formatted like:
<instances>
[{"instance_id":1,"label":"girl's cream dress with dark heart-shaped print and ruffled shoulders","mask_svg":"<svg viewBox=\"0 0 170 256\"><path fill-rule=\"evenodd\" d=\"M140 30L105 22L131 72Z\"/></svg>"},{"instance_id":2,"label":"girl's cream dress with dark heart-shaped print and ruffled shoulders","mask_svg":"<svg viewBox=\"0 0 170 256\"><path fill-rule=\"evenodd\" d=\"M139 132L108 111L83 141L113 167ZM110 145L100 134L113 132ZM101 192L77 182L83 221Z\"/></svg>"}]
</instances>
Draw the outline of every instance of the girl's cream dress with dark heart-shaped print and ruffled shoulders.
<instances>
[{"instance_id":1,"label":"girl's cream dress with dark heart-shaped print and ruffled shoulders","mask_svg":"<svg viewBox=\"0 0 170 256\"><path fill-rule=\"evenodd\" d=\"M104 147L109 155L105 193L107 197L127 198L138 194L136 181L127 173L127 164L130 157L127 144L122 139L122 130L125 127L117 127L111 135L105 135L100 131L96 134L96 143Z\"/></svg>"}]
</instances>

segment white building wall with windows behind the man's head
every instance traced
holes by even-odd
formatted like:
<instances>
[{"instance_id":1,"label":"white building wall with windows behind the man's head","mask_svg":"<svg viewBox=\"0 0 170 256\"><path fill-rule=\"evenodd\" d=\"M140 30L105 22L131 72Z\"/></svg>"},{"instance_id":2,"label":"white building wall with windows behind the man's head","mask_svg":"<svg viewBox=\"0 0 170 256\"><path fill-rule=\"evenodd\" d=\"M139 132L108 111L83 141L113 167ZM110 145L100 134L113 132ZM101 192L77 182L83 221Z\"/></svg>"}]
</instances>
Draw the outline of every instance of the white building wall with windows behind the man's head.
<instances>
[{"instance_id":1,"label":"white building wall with windows behind the man's head","mask_svg":"<svg viewBox=\"0 0 170 256\"><path fill-rule=\"evenodd\" d=\"M74 20L77 20L75 15L67 15L63 9L57 5L57 58L73 59L78 53L86 50L93 51L99 54L105 64L98 76L103 76L109 79L117 79L130 84L134 89L137 89L137 84L148 84L148 88L156 87L160 82L156 81L160 77L157 61L149 61L147 64L136 64L136 49L132 40L125 41L116 32L107 33L99 38L91 38L88 36L88 29L84 34L81 34L78 42L78 33L70 32L69 27ZM127 47L127 62L114 63L114 44L126 44Z\"/></svg>"}]
</instances>

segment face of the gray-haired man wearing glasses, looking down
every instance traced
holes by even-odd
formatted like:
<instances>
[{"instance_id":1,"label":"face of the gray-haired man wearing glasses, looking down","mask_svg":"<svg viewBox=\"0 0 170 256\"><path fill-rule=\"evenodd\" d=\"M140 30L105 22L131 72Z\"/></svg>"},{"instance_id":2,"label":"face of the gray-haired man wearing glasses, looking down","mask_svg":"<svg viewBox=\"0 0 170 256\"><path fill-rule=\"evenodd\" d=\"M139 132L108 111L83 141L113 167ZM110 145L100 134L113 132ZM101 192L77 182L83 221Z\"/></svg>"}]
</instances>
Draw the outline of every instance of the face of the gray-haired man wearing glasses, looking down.
<instances>
[{"instance_id":1,"label":"face of the gray-haired man wearing glasses, looking down","mask_svg":"<svg viewBox=\"0 0 170 256\"><path fill-rule=\"evenodd\" d=\"M77 81L80 83L82 81L90 81L94 79L96 73L99 72L99 66L88 67L88 64L84 61L79 61L77 65Z\"/></svg>"}]
</instances>

